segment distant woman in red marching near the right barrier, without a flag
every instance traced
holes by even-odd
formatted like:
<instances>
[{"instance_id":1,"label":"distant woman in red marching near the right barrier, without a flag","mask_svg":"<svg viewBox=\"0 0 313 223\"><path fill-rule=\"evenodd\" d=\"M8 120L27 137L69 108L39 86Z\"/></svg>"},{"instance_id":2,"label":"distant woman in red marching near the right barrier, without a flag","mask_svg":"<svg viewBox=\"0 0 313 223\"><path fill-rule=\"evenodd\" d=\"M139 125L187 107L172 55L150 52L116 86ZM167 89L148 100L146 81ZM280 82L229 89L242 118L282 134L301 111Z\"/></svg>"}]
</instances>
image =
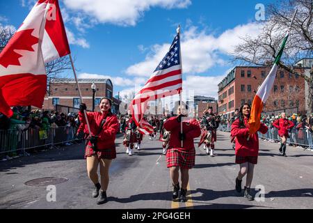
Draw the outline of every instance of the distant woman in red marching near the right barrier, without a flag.
<instances>
[{"instance_id":1,"label":"distant woman in red marching near the right barrier, without a flag","mask_svg":"<svg viewBox=\"0 0 313 223\"><path fill-rule=\"evenodd\" d=\"M280 154L283 156L287 156L286 142L287 138L289 138L288 130L294 128L294 123L286 118L286 114L284 112L282 112L281 116L282 118L274 121L273 126L275 128L278 128L278 135L280 136L280 139L282 139L282 141L280 142Z\"/></svg>"}]
</instances>

